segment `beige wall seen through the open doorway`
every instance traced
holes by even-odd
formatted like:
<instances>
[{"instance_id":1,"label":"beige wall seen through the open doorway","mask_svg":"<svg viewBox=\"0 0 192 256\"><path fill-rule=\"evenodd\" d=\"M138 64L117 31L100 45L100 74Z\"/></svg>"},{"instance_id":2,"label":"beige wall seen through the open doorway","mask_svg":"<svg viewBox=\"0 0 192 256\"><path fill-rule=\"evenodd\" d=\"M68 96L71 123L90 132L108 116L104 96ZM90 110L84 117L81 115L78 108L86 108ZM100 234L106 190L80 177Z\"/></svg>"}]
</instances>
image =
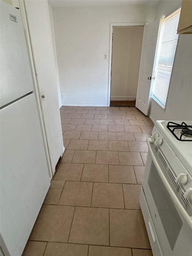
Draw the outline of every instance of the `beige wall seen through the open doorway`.
<instances>
[{"instance_id":1,"label":"beige wall seen through the open doorway","mask_svg":"<svg viewBox=\"0 0 192 256\"><path fill-rule=\"evenodd\" d=\"M111 101L136 99L143 29L113 27Z\"/></svg>"}]
</instances>

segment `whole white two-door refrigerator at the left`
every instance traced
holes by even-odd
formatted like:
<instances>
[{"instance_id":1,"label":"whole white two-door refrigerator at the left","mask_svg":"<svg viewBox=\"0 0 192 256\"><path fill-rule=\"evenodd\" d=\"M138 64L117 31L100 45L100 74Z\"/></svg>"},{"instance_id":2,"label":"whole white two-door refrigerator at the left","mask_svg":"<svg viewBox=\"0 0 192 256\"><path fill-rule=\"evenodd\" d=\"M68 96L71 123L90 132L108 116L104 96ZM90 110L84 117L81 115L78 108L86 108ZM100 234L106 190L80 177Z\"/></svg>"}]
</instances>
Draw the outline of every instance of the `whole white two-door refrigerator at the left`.
<instances>
[{"instance_id":1,"label":"whole white two-door refrigerator at the left","mask_svg":"<svg viewBox=\"0 0 192 256\"><path fill-rule=\"evenodd\" d=\"M50 179L21 14L0 5L1 254L20 256Z\"/></svg>"}]
</instances>

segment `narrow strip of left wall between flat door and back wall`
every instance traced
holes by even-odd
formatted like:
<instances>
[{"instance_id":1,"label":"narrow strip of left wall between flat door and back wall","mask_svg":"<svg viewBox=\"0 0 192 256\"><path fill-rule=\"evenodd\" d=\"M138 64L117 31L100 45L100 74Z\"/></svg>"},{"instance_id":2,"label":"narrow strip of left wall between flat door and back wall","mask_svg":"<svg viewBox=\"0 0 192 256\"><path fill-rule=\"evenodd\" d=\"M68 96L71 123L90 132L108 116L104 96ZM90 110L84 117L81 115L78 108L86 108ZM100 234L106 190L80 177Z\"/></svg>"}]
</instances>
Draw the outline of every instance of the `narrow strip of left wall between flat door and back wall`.
<instances>
[{"instance_id":1,"label":"narrow strip of left wall between flat door and back wall","mask_svg":"<svg viewBox=\"0 0 192 256\"><path fill-rule=\"evenodd\" d=\"M58 101L59 101L59 108L60 108L62 104L61 104L61 93L60 93L60 85L59 85L56 44L55 44L55 30L54 30L54 24L53 24L53 12L52 12L52 7L50 5L49 5L49 19L50 19L50 26L51 26L51 38L52 38L52 46L53 46L53 54L54 54L54 62L55 62Z\"/></svg>"}]
</instances>

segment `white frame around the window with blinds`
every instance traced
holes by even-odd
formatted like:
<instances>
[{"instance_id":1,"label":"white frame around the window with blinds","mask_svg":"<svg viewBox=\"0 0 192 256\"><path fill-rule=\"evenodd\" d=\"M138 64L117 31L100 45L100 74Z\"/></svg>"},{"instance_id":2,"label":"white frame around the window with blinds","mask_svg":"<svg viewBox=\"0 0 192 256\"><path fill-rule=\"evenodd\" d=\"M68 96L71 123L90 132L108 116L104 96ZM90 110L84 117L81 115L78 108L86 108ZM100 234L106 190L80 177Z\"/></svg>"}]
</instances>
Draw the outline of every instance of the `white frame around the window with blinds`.
<instances>
[{"instance_id":1,"label":"white frame around the window with blinds","mask_svg":"<svg viewBox=\"0 0 192 256\"><path fill-rule=\"evenodd\" d=\"M176 11L174 11L173 13L169 14L169 15L164 15L161 18L160 21L160 32L159 32L159 36L158 36L158 43L157 43L157 48L156 48L156 53L155 53L155 60L154 60L154 66L153 66L153 73L152 73L152 83L151 83L151 90L150 90L150 98L152 98L158 105L160 105L164 111L166 110L166 106L167 106L167 99L168 99L168 95L169 95L169 90L170 90L170 83L171 83L171 79L172 79L172 75L173 75L173 67L175 64L175 57L176 57L176 51L177 51L177 46L178 46L178 41L179 41L179 35L177 38L177 44L176 44L176 48L175 48L175 54L174 54L174 58L173 58L173 65L172 65L172 69L171 69L171 75L170 75L170 80L169 80L169 87L168 87L168 91L167 91L167 97L166 97L166 101L165 101L165 105L161 103L161 101L159 101L159 99L157 97L155 97L155 95L153 95L154 89L155 89L155 79L153 79L156 76L156 72L157 72L157 64L158 64L158 59L159 59L159 54L160 54L160 50L161 50L161 38L162 38L162 34L163 34L163 26L164 26L164 20L166 18L168 18L169 16L173 16L174 14L180 12L181 13L181 8L177 9Z\"/></svg>"}]
</instances>

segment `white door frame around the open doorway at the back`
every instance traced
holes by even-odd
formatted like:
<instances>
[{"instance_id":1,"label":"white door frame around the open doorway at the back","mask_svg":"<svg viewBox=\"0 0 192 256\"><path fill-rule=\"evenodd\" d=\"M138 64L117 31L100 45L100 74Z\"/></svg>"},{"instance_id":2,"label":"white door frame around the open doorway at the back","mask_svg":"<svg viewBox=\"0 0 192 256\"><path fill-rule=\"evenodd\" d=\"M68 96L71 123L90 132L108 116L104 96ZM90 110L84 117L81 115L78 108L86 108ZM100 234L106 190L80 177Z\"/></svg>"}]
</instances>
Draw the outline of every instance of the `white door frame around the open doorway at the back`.
<instances>
[{"instance_id":1,"label":"white door frame around the open doorway at the back","mask_svg":"<svg viewBox=\"0 0 192 256\"><path fill-rule=\"evenodd\" d=\"M134 22L134 23L110 23L110 43L109 43L109 75L108 75L108 99L107 106L110 106L111 96L111 64L112 64L112 41L113 41L113 27L138 27L145 26L149 22Z\"/></svg>"}]
</instances>

